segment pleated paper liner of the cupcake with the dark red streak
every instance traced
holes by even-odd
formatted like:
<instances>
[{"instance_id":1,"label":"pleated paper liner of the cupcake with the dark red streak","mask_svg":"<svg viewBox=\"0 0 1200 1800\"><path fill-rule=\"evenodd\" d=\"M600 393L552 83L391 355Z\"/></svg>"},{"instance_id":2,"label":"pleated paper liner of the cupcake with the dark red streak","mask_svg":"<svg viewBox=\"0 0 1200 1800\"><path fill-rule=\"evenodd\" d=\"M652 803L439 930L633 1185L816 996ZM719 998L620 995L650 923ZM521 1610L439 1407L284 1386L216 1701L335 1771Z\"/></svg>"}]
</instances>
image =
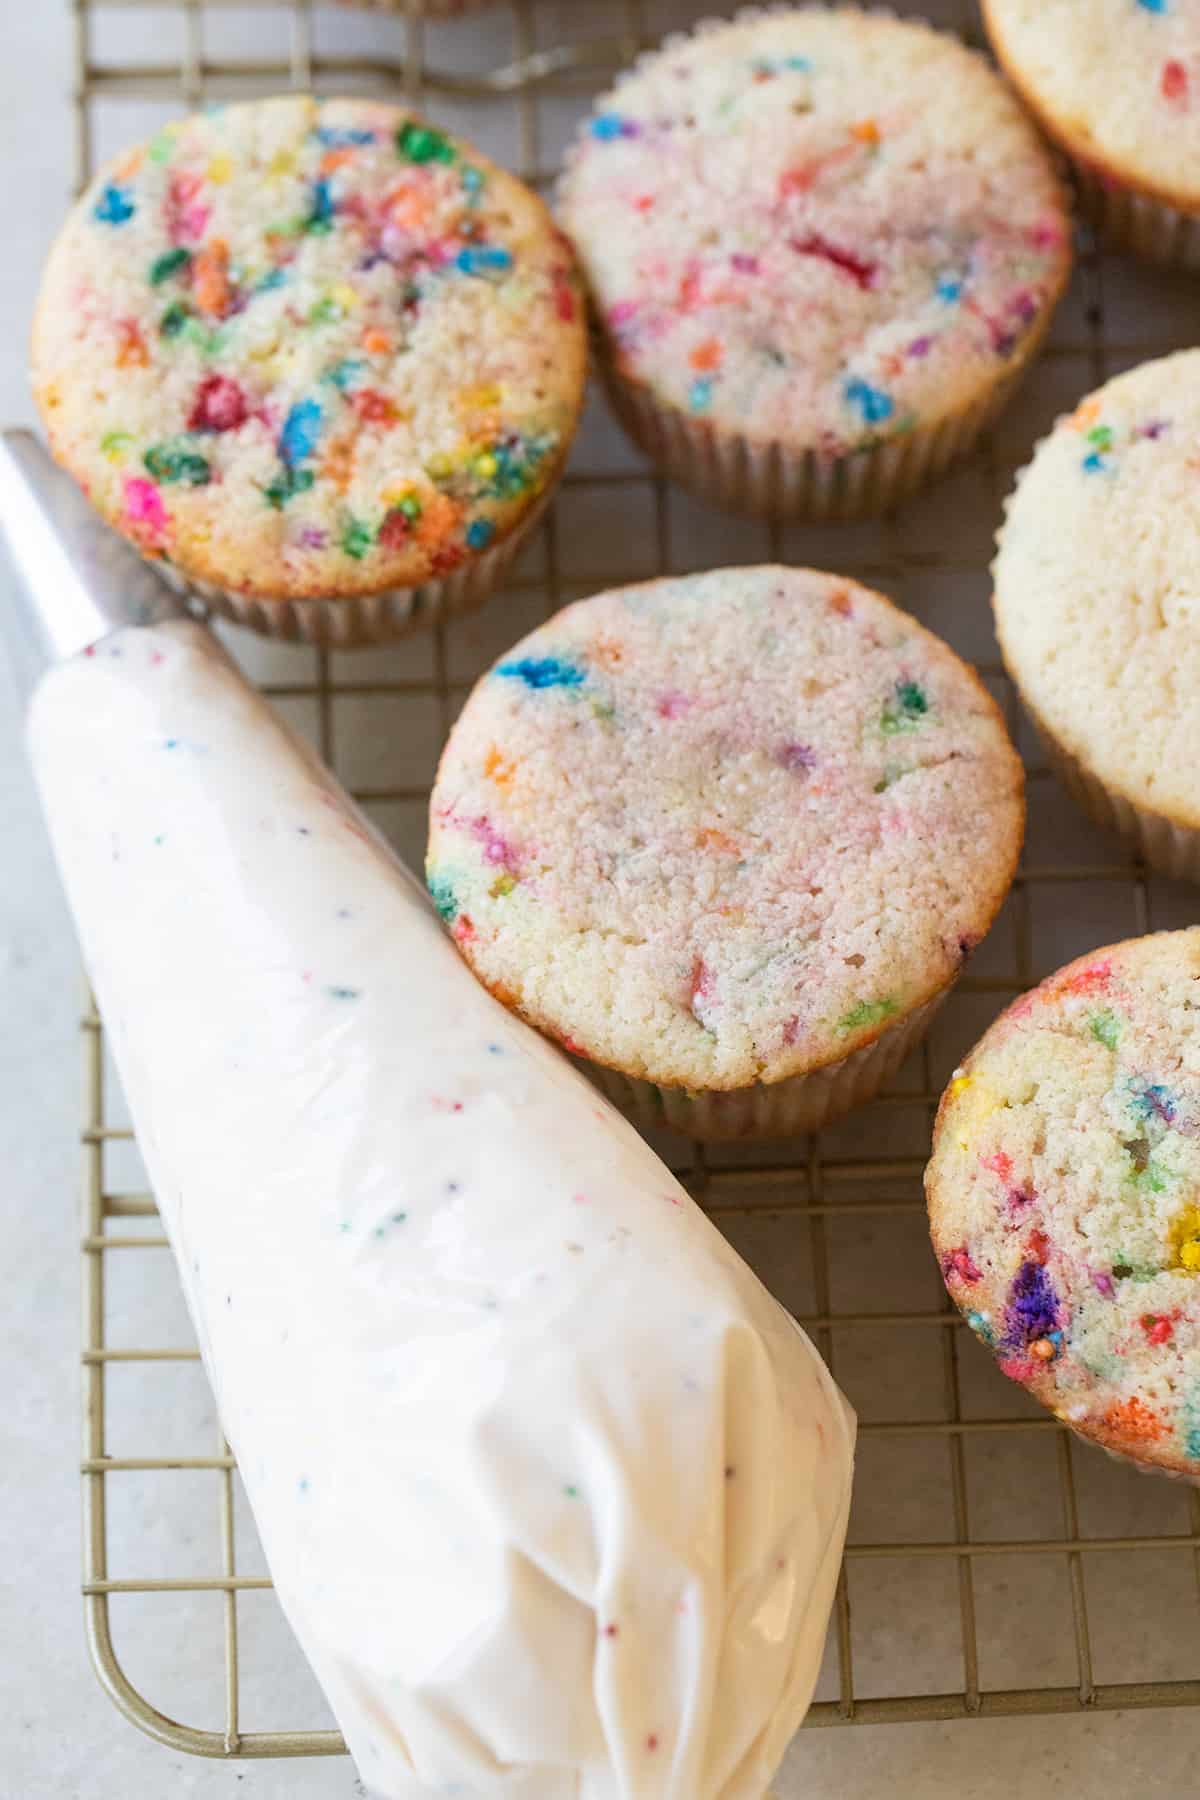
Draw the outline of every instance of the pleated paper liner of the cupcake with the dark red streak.
<instances>
[{"instance_id":1,"label":"pleated paper liner of the cupcake with the dark red streak","mask_svg":"<svg viewBox=\"0 0 1200 1800\"><path fill-rule=\"evenodd\" d=\"M612 409L633 443L666 475L705 500L757 518L808 522L869 518L885 513L952 463L964 457L1006 407L1051 322L1047 306L1020 356L970 405L936 425L916 425L867 450L828 455L793 450L781 441L757 443L694 419L626 382L601 346L596 355Z\"/></svg>"}]
</instances>

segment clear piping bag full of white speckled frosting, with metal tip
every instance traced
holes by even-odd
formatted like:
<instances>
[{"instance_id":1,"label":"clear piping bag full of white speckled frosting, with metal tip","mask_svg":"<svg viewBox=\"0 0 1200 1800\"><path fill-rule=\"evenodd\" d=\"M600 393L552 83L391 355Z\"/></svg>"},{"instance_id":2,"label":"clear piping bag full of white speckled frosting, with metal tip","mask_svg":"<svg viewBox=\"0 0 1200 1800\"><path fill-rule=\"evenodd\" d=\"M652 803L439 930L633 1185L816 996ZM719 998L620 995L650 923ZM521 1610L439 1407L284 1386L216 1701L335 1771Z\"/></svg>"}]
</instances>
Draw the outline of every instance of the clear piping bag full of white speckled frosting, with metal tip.
<instances>
[{"instance_id":1,"label":"clear piping bag full of white speckled frosting, with metal tip","mask_svg":"<svg viewBox=\"0 0 1200 1800\"><path fill-rule=\"evenodd\" d=\"M387 1800L761 1800L853 1463L817 1352L32 437L58 864L263 1548Z\"/></svg>"}]
</instances>

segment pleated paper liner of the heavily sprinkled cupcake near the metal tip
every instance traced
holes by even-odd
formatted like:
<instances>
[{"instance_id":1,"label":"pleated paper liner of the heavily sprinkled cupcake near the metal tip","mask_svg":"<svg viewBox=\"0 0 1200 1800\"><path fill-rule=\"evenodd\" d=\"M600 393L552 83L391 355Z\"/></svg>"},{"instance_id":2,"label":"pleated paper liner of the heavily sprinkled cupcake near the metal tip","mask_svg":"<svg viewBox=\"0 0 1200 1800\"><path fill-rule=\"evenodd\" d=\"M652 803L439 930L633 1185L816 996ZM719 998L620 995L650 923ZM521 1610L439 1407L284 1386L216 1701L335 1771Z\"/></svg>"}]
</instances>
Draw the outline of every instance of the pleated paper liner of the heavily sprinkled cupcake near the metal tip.
<instances>
[{"instance_id":1,"label":"pleated paper liner of the heavily sprinkled cupcake near the metal tip","mask_svg":"<svg viewBox=\"0 0 1200 1800\"><path fill-rule=\"evenodd\" d=\"M470 562L435 581L417 587L389 587L376 594L345 598L281 596L264 599L237 594L234 589L201 581L184 574L175 563L155 562L164 581L187 598L201 601L207 612L216 612L234 625L245 625L264 637L286 643L320 644L326 650L358 650L363 644L383 644L396 637L475 612L500 585L527 538L536 529L551 502L556 479L547 482L540 499L525 517L491 549L479 551Z\"/></svg>"}]
</instances>

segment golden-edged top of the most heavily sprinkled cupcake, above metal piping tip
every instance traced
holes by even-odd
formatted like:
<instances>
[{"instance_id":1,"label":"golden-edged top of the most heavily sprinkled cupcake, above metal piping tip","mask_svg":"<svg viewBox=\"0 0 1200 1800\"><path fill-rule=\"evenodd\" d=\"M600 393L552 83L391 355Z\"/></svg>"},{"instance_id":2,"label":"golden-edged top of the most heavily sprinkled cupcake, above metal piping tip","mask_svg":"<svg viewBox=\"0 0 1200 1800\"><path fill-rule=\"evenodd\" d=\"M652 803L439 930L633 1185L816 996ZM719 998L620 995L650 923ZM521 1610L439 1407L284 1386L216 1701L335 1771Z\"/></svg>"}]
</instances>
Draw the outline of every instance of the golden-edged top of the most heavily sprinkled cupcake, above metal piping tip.
<instances>
[{"instance_id":1,"label":"golden-edged top of the most heavily sprinkled cupcake, above metal piping tip","mask_svg":"<svg viewBox=\"0 0 1200 1800\"><path fill-rule=\"evenodd\" d=\"M52 448L99 511L266 598L408 587L498 542L583 373L542 202L378 101L166 126L76 205L34 326Z\"/></svg>"}]
</instances>

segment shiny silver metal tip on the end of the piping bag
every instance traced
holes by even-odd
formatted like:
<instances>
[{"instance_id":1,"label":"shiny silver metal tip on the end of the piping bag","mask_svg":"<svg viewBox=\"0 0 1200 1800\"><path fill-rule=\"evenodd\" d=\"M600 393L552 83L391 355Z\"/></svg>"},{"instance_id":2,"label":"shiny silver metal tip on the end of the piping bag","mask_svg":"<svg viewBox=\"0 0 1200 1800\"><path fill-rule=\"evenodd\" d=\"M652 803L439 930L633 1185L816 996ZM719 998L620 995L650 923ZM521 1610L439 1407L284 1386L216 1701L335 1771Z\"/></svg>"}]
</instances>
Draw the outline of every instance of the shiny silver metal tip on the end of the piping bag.
<instances>
[{"instance_id":1,"label":"shiny silver metal tip on the end of the piping bag","mask_svg":"<svg viewBox=\"0 0 1200 1800\"><path fill-rule=\"evenodd\" d=\"M0 632L23 686L126 625L193 616L27 430L0 432L0 538L16 576Z\"/></svg>"}]
</instances>

